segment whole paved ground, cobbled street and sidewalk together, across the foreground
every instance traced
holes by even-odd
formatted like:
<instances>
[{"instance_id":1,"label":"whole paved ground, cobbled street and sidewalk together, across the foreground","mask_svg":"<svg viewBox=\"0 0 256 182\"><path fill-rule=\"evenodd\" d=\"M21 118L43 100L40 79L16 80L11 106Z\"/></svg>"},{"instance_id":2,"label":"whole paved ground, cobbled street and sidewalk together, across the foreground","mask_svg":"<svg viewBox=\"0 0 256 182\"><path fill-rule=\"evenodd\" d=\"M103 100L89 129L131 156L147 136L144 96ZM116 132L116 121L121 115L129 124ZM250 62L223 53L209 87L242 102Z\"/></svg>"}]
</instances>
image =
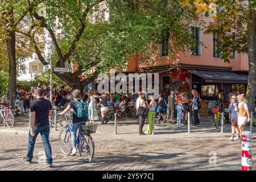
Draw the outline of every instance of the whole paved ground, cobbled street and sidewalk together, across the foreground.
<instances>
[{"instance_id":1,"label":"whole paved ground, cobbled street and sidewalk together, across the foreground","mask_svg":"<svg viewBox=\"0 0 256 182\"><path fill-rule=\"evenodd\" d=\"M114 135L114 123L110 121L92 134L96 153L91 163L83 163L79 154L63 155L57 142L59 131L51 131L54 168L38 163L39 155L44 154L40 136L32 164L23 162L28 142L26 117L18 118L16 123L18 127L14 129L0 127L0 170L241 170L241 143L228 139L230 125L225 125L222 134L220 129L210 128L210 118L203 118L199 127L192 127L191 135L187 134L187 126L160 123L155 124L155 135L139 136L135 119L118 121L118 134ZM254 146L255 142L253 156ZM217 164L209 164L212 152ZM255 162L253 158L254 170Z\"/></svg>"}]
</instances>

